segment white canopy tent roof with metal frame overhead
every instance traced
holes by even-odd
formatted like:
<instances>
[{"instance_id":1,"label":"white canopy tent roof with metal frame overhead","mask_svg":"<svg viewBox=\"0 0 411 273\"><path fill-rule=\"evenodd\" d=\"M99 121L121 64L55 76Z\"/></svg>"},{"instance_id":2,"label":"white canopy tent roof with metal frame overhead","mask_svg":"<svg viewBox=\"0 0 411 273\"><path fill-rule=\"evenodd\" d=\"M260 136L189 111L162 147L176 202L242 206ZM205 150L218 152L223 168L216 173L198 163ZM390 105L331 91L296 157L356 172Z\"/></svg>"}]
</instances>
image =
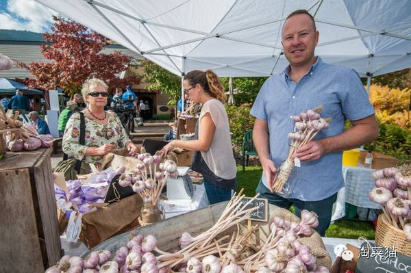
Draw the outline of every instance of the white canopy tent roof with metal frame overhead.
<instances>
[{"instance_id":1,"label":"white canopy tent roof with metal frame overhead","mask_svg":"<svg viewBox=\"0 0 411 273\"><path fill-rule=\"evenodd\" d=\"M306 9L316 55L362 77L411 67L410 0L36 0L176 75L269 76L288 65L281 29Z\"/></svg>"}]
</instances>

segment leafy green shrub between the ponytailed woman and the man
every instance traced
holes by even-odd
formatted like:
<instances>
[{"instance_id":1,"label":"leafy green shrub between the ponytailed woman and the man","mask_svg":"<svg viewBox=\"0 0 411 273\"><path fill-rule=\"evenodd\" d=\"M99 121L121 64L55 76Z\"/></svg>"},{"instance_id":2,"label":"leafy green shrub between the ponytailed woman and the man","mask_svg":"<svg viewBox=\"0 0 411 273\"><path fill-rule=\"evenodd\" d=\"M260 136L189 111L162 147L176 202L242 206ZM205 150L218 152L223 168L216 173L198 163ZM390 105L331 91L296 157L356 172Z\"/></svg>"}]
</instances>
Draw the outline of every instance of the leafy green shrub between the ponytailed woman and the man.
<instances>
[{"instance_id":1,"label":"leafy green shrub between the ponytailed woman and the man","mask_svg":"<svg viewBox=\"0 0 411 273\"><path fill-rule=\"evenodd\" d=\"M232 132L232 143L236 151L241 151L242 136L245 132L253 129L256 118L250 115L251 106L251 103L240 106L225 105L229 120L229 129Z\"/></svg>"}]
</instances>

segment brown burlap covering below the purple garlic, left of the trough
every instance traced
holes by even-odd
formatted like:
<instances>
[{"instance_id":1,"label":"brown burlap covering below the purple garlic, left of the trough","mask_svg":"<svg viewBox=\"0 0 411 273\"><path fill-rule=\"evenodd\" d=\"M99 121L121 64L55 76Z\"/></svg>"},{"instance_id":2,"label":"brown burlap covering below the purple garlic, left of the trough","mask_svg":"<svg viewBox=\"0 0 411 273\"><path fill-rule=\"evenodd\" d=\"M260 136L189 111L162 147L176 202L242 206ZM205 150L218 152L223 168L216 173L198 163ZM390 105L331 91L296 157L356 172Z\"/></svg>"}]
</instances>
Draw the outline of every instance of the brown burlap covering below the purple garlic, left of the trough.
<instances>
[{"instance_id":1,"label":"brown burlap covering below the purple garlic, left of the trough","mask_svg":"<svg viewBox=\"0 0 411 273\"><path fill-rule=\"evenodd\" d=\"M88 248L138 226L142 200L138 194L123 198L107 207L84 213L80 240Z\"/></svg>"}]
</instances>

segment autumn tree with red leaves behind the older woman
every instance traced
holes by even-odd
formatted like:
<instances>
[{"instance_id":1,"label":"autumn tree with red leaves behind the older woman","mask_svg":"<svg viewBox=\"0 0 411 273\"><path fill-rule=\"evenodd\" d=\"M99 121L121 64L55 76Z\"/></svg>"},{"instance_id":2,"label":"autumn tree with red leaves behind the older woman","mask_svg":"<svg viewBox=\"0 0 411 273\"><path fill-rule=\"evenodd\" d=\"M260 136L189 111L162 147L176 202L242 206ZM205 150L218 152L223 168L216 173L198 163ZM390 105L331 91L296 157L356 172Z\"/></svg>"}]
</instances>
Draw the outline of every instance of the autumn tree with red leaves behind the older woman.
<instances>
[{"instance_id":1,"label":"autumn tree with red leaves behind the older woman","mask_svg":"<svg viewBox=\"0 0 411 273\"><path fill-rule=\"evenodd\" d=\"M30 88L54 89L60 86L69 94L78 93L82 83L97 77L109 88L125 86L130 79L119 79L116 73L126 69L130 57L114 51L101 53L110 43L108 38L74 21L53 16L51 32L42 34L49 45L41 46L41 53L51 62L19 63L34 75L27 79ZM138 77L132 79L137 84Z\"/></svg>"}]
</instances>

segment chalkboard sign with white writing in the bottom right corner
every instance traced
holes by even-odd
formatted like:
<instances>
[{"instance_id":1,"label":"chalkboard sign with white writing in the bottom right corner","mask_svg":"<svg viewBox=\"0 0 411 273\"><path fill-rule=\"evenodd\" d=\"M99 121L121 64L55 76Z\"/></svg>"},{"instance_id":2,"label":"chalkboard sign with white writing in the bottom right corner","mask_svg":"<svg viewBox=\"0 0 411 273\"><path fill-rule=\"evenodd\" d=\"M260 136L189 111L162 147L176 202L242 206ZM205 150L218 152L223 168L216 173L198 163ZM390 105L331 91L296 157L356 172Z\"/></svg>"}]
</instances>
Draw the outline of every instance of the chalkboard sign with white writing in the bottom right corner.
<instances>
[{"instance_id":1,"label":"chalkboard sign with white writing in the bottom right corner","mask_svg":"<svg viewBox=\"0 0 411 273\"><path fill-rule=\"evenodd\" d=\"M364 243L360 247L356 273L369 272L411 272L411 257L402 255L393 247L385 248L373 243Z\"/></svg>"}]
</instances>

